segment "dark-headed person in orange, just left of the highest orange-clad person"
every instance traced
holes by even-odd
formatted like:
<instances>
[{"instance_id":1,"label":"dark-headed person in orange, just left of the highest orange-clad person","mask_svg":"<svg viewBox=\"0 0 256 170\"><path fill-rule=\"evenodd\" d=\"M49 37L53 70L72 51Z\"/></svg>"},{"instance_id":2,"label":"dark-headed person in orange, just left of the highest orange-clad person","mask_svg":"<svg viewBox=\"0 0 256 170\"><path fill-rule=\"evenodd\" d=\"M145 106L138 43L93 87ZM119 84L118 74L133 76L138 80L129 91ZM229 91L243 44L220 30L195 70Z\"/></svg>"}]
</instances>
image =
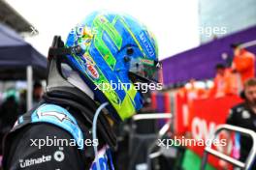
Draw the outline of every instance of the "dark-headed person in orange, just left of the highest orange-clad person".
<instances>
[{"instance_id":1,"label":"dark-headed person in orange, just left of the highest orange-clad person","mask_svg":"<svg viewBox=\"0 0 256 170\"><path fill-rule=\"evenodd\" d=\"M209 97L221 98L234 94L230 71L222 64L217 64L215 70L216 75L213 80L213 87L209 90Z\"/></svg>"}]
</instances>

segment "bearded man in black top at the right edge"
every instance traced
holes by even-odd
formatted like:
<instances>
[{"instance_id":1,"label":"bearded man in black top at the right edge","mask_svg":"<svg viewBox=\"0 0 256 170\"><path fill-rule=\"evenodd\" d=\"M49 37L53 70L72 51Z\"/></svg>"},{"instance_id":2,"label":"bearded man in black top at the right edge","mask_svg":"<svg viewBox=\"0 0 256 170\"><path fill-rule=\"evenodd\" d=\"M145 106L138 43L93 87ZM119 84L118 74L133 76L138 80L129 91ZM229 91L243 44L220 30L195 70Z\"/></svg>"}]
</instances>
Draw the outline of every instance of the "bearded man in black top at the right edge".
<instances>
[{"instance_id":1,"label":"bearded man in black top at the right edge","mask_svg":"<svg viewBox=\"0 0 256 170\"><path fill-rule=\"evenodd\" d=\"M256 131L256 78L249 78L245 81L241 97L244 101L231 108L227 124ZM244 162L251 147L251 138L241 135L240 161ZM255 162L251 169L256 169Z\"/></svg>"}]
</instances>

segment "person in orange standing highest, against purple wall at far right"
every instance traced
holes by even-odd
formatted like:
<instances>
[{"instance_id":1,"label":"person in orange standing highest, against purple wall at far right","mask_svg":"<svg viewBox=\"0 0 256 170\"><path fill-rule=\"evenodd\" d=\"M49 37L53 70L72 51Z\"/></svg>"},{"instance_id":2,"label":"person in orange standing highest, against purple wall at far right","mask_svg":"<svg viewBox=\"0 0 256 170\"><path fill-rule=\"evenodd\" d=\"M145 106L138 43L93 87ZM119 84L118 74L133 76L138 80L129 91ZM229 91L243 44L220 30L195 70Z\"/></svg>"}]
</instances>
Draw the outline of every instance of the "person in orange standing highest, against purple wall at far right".
<instances>
[{"instance_id":1,"label":"person in orange standing highest, against purple wall at far right","mask_svg":"<svg viewBox=\"0 0 256 170\"><path fill-rule=\"evenodd\" d=\"M232 44L232 47L234 49L232 71L238 73L242 85L247 79L255 76L255 55L239 44Z\"/></svg>"}]
</instances>

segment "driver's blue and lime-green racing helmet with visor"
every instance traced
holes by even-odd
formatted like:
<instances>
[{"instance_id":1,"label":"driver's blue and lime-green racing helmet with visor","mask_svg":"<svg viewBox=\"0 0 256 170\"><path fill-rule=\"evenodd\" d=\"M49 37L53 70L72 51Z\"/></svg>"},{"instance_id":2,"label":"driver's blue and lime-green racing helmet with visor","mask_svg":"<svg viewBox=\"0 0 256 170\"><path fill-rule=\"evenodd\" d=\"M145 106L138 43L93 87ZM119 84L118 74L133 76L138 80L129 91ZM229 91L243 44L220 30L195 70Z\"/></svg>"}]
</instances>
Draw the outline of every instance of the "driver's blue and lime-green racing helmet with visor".
<instances>
[{"instance_id":1,"label":"driver's blue and lime-green racing helmet with visor","mask_svg":"<svg viewBox=\"0 0 256 170\"><path fill-rule=\"evenodd\" d=\"M131 117L143 106L135 81L157 81L157 44L153 35L127 14L95 12L70 32L66 47L80 46L68 55L71 67L107 107L115 120Z\"/></svg>"}]
</instances>

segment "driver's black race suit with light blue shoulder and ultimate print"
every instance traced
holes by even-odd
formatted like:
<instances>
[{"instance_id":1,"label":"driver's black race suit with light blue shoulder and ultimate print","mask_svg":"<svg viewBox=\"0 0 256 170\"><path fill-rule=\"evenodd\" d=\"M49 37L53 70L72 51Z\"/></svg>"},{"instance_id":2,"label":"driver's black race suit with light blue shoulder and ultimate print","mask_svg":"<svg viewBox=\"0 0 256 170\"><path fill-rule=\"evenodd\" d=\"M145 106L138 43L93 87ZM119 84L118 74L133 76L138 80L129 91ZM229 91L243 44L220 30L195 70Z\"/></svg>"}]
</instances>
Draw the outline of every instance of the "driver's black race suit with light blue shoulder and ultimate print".
<instances>
[{"instance_id":1,"label":"driver's black race suit with light blue shoulder and ultimate print","mask_svg":"<svg viewBox=\"0 0 256 170\"><path fill-rule=\"evenodd\" d=\"M87 105L90 103L91 107L92 102L88 99L79 103L74 97L78 96L45 95L37 107L18 118L5 139L4 170L95 170L93 145L98 146L101 169L113 170L109 146L114 145L112 128L102 115L98 126L105 127L105 131L99 128L99 138L92 140L91 110L96 107L89 108Z\"/></svg>"}]
</instances>

